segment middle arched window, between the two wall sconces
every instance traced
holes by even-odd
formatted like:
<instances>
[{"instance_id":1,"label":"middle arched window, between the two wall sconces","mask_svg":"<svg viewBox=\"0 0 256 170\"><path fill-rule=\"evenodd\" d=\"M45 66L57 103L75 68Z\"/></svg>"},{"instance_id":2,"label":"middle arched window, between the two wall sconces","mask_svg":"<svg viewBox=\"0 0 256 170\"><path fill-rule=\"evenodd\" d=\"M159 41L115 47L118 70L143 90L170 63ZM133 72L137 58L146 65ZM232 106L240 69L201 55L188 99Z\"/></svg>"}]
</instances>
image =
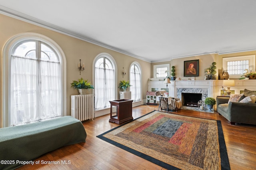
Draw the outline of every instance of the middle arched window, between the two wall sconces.
<instances>
[{"instance_id":1,"label":"middle arched window, between the two wall sconces","mask_svg":"<svg viewBox=\"0 0 256 170\"><path fill-rule=\"evenodd\" d=\"M116 64L107 53L100 53L94 60L95 110L110 107L116 96Z\"/></svg>"}]
</instances>

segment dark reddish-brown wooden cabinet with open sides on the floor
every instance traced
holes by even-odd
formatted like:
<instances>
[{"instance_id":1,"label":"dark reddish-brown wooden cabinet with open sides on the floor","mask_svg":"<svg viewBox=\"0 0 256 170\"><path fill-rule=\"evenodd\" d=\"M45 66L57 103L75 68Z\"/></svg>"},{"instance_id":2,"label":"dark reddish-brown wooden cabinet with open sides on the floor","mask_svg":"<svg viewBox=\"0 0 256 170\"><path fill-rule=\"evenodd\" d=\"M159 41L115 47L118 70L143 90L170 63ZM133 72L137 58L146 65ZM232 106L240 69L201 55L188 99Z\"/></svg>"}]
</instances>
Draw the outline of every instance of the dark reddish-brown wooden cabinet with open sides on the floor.
<instances>
[{"instance_id":1,"label":"dark reddish-brown wooden cabinet with open sides on the floor","mask_svg":"<svg viewBox=\"0 0 256 170\"><path fill-rule=\"evenodd\" d=\"M120 99L110 102L110 119L109 122L118 125L133 120L132 101L130 99Z\"/></svg>"}]
</instances>

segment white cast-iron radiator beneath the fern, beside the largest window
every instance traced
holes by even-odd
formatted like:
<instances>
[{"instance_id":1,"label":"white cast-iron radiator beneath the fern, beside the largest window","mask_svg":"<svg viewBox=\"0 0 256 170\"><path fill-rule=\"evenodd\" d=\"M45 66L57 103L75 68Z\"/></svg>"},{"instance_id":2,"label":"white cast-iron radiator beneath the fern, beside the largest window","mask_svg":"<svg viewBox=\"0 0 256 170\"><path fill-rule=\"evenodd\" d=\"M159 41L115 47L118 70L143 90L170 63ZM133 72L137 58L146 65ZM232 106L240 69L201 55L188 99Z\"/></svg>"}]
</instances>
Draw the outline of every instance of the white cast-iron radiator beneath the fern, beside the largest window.
<instances>
[{"instance_id":1,"label":"white cast-iron radiator beneath the fern, beside the largest window","mask_svg":"<svg viewBox=\"0 0 256 170\"><path fill-rule=\"evenodd\" d=\"M72 95L71 116L85 121L94 117L94 95Z\"/></svg>"}]
</instances>

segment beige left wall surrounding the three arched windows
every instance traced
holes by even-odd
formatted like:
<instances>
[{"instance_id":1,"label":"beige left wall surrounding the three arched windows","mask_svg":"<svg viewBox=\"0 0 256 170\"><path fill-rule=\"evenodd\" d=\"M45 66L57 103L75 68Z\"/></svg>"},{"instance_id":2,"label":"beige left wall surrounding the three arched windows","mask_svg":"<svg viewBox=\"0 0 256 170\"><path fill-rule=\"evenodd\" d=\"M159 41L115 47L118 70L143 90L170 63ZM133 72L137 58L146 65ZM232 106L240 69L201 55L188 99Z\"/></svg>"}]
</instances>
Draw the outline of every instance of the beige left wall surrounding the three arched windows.
<instances>
[{"instance_id":1,"label":"beige left wall surrounding the three arched windows","mask_svg":"<svg viewBox=\"0 0 256 170\"><path fill-rule=\"evenodd\" d=\"M78 91L74 88L70 87L70 83L72 80L77 80L81 77L84 79L88 79L88 81L93 82L92 77L92 65L94 58L99 53L109 53L116 61L117 64L117 87L121 80L129 80L129 69L132 62L137 61L142 67L142 99L146 97L146 91L148 89L148 78L150 77L150 63L130 57L128 55L124 55L122 53L118 53L116 51L106 49L104 47L100 47L98 45L94 45L92 43L88 43L82 40L78 40L76 38L72 38L70 36L66 36L64 34L60 34L58 32L54 32L52 30L48 30L46 28L42 28L40 26L36 26L21 20L17 20L15 18L11 18L5 15L0 14L0 49L1 49L1 83L0 88L2 89L2 48L4 43L7 42L9 38L16 34L24 33L24 32L34 32L38 34L42 34L47 36L48 38L54 40L64 51L66 55L66 87L67 87L67 115L70 115L70 96L78 94ZM85 63L85 70L81 71L81 75L79 75L78 61L82 59L82 63ZM126 75L122 78L122 69L126 69ZM88 93L92 93L92 89L88 91ZM119 89L117 90L117 94L119 94ZM2 90L1 90L2 96ZM0 123L2 123L2 97L0 99L1 102L1 113L0 113ZM2 127L2 125L0 126Z\"/></svg>"}]
</instances>

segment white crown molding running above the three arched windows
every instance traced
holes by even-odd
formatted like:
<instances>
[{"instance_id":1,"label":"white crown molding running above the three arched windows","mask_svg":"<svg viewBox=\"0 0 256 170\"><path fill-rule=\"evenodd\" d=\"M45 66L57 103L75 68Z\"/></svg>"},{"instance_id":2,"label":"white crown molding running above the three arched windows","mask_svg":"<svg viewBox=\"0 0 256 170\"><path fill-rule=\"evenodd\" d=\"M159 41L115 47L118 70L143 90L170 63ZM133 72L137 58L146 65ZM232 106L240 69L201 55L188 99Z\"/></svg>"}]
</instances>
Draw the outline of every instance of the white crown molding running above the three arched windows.
<instances>
[{"instance_id":1,"label":"white crown molding running above the three arched windows","mask_svg":"<svg viewBox=\"0 0 256 170\"><path fill-rule=\"evenodd\" d=\"M58 33L61 33L61 34L64 34L66 36L70 36L70 37L73 37L73 38L77 38L79 40L83 40L85 42L89 42L89 43L92 43L92 44L95 44L95 45L98 45L100 47L104 47L104 48L107 48L107 49L111 49L113 51L116 51L116 52L119 52L119 53L122 53L122 54L125 54L125 55L129 55L130 57L134 57L134 58L137 58L137 59L140 59L140 60L143 60L143 61L146 61L146 62L149 62L151 63L151 61L143 58L143 57L140 57L138 55L135 55L135 54L132 54L132 53L129 53L128 51L125 51L125 50L122 50L122 49L119 49L119 48L116 48L116 47L113 47L111 45L108 45L106 43L102 43L102 42L99 42L97 40L94 40L92 38L89 38L87 36L82 36L81 34L77 34L75 32L71 32L69 30L66 30L66 29L63 29L61 27L58 27L54 24L50 24L48 22L44 22L42 20L38 20L34 17L31 17L31 16L28 16L26 14L23 14L23 13L20 13L20 12L17 12L15 10L12 10L10 8L6 8L4 6L1 6L0 5L0 14L4 14L6 16L10 16L12 18L16 18L18 20L22 20L24 22L28 22L30 24L34 24L36 26L40 26L42 28L46 28L48 30L52 30L52 31L55 31L55 32L58 32Z\"/></svg>"}]
</instances>

